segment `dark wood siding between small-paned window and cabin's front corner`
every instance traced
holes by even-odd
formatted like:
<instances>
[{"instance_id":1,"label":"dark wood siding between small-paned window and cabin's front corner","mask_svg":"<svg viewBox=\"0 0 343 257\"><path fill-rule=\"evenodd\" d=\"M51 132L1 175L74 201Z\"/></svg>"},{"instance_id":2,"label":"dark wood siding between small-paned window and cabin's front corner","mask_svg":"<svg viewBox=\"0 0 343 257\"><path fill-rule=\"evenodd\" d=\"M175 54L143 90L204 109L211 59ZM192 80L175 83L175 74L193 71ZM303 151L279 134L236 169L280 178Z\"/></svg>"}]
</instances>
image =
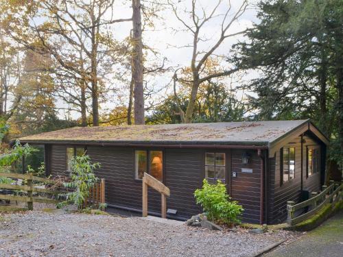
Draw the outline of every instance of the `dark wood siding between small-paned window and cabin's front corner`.
<instances>
[{"instance_id":1,"label":"dark wood siding between small-paned window and cabin's front corner","mask_svg":"<svg viewBox=\"0 0 343 257\"><path fill-rule=\"evenodd\" d=\"M242 221L259 223L260 219L260 197L261 197L261 158L257 151L248 151L250 161L242 164L242 150L232 150L232 172L237 173L237 178L231 179L231 196L244 208ZM241 169L252 169L252 173L242 173Z\"/></svg>"}]
</instances>

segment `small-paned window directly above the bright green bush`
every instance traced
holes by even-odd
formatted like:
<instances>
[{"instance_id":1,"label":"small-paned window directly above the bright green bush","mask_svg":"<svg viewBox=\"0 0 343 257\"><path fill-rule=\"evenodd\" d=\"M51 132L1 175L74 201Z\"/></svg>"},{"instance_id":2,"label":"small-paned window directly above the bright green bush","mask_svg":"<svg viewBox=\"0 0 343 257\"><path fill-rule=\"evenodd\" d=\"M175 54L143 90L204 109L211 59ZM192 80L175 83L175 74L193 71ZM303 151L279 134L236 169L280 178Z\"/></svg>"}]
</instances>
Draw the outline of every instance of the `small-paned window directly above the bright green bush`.
<instances>
[{"instance_id":1,"label":"small-paned window directly above the bright green bush","mask_svg":"<svg viewBox=\"0 0 343 257\"><path fill-rule=\"evenodd\" d=\"M217 180L225 184L225 154L206 153L205 154L205 178L215 184Z\"/></svg>"}]
</instances>

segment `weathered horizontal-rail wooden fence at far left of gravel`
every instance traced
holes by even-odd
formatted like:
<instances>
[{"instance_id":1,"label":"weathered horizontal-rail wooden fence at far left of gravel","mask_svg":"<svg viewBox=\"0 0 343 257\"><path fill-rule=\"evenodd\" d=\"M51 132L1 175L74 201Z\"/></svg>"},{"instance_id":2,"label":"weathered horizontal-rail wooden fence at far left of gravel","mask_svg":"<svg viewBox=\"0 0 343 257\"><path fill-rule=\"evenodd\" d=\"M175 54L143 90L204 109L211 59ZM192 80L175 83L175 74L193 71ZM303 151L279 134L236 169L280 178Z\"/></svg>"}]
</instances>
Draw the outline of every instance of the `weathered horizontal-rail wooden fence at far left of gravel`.
<instances>
[{"instance_id":1,"label":"weathered horizontal-rail wooden fence at far left of gravel","mask_svg":"<svg viewBox=\"0 0 343 257\"><path fill-rule=\"evenodd\" d=\"M43 182L45 184L56 184L56 182L54 180L36 177L36 176L32 175L32 173L19 174L19 173L3 173L3 172L1 172L0 177L27 180L26 185L0 184L0 188L24 191L25 195L27 195L27 196L0 194L0 199L26 202L27 208L29 210L34 209L34 202L46 203L46 204L58 203L58 200L56 200L56 199L49 199L49 198L45 198L45 197L34 197L34 194L33 194L34 192L36 192L36 193L47 193L47 194L51 194L51 195L60 194L61 193L60 191L54 191L54 190L50 190L50 189L46 189L46 188L35 187L33 184L34 181Z\"/></svg>"}]
</instances>

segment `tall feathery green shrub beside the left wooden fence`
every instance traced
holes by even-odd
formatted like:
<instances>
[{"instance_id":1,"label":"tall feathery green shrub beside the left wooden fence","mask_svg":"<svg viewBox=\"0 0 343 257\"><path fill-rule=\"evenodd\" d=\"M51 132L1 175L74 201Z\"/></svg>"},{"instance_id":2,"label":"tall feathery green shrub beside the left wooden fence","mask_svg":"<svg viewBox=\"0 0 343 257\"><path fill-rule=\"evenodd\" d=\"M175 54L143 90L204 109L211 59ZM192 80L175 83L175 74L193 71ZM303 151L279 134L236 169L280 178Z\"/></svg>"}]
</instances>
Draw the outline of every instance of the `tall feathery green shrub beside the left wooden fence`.
<instances>
[{"instance_id":1,"label":"tall feathery green shrub beside the left wooden fence","mask_svg":"<svg viewBox=\"0 0 343 257\"><path fill-rule=\"evenodd\" d=\"M82 209L84 199L89 195L89 188L99 180L94 174L94 169L99 167L99 163L91 163L91 158L87 155L71 159L71 182L64 182L63 186L73 189L73 192L64 194L66 201L62 201L57 207L75 204L78 209Z\"/></svg>"}]
</instances>

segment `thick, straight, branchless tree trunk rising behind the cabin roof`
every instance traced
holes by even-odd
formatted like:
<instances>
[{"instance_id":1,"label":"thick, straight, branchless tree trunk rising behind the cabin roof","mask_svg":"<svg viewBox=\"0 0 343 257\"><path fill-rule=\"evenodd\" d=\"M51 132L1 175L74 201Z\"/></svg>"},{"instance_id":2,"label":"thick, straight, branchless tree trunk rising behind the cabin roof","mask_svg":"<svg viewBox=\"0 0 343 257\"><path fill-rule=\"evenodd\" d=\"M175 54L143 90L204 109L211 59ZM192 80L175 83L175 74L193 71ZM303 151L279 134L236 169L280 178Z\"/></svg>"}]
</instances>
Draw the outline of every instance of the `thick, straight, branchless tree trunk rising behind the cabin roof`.
<instances>
[{"instance_id":1,"label":"thick, straight, branchless tree trunk rising behind the cabin roof","mask_svg":"<svg viewBox=\"0 0 343 257\"><path fill-rule=\"evenodd\" d=\"M134 124L144 124L143 43L141 1L132 0L132 77L134 80Z\"/></svg>"}]
</instances>

